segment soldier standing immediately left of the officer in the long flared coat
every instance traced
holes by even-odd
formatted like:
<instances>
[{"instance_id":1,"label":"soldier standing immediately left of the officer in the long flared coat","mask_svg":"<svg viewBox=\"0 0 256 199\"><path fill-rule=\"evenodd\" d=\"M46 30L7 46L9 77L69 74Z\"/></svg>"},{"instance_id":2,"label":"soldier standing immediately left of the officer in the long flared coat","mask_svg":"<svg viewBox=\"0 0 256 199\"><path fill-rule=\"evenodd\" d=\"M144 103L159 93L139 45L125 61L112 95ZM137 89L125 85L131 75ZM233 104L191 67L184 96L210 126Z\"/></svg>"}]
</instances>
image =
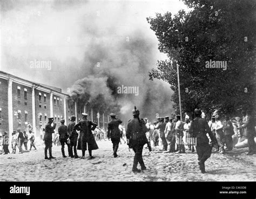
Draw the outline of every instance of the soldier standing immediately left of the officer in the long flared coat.
<instances>
[{"instance_id":1,"label":"soldier standing immediately left of the officer in the long flared coat","mask_svg":"<svg viewBox=\"0 0 256 199\"><path fill-rule=\"evenodd\" d=\"M77 155L77 137L78 137L78 133L76 131L75 127L75 121L76 121L76 116L75 115L71 115L70 117L70 123L68 126L68 134L69 134L69 139L70 139L70 155L71 157L75 157L78 158ZM74 150L74 154L73 154L73 150ZM75 156L74 156L75 155Z\"/></svg>"}]
</instances>

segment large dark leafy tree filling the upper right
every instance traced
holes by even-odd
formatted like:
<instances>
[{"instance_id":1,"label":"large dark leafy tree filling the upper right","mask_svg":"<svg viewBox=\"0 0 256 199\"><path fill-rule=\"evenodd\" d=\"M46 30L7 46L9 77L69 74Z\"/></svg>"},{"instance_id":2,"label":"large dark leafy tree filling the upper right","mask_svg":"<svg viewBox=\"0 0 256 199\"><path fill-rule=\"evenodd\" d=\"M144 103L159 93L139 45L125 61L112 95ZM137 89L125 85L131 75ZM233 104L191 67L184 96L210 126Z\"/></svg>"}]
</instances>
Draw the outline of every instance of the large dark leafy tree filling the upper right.
<instances>
[{"instance_id":1,"label":"large dark leafy tree filling the upper right","mask_svg":"<svg viewBox=\"0 0 256 199\"><path fill-rule=\"evenodd\" d=\"M201 108L209 116L214 109L238 114L254 105L255 1L185 0L192 9L170 12L147 21L159 40L160 52L169 60L158 60L149 76L167 81L179 106L177 64L179 64L181 107L192 114ZM226 61L224 68L206 68L206 61Z\"/></svg>"}]
</instances>

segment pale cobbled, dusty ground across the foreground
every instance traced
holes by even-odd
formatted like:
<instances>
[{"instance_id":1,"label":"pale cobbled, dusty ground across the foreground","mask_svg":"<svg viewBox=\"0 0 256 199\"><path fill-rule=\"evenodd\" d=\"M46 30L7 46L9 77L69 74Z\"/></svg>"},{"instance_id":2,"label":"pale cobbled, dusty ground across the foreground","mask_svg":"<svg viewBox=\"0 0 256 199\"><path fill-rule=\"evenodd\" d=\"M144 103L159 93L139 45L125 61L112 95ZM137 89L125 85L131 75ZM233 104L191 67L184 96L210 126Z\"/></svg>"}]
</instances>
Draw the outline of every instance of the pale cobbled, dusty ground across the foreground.
<instances>
[{"instance_id":1,"label":"pale cobbled, dusty ground across the foreground","mask_svg":"<svg viewBox=\"0 0 256 199\"><path fill-rule=\"evenodd\" d=\"M159 151L160 147L153 147L152 152L144 149L147 170L133 174L134 153L127 145L119 145L119 156L114 158L111 141L97 143L99 149L93 150L92 160L63 158L60 146L52 148L53 160L44 160L44 146L28 153L0 155L0 181L256 181L256 155L246 156L248 148L212 154L205 164L206 174L200 173L196 152L170 154ZM65 152L68 154L67 148ZM81 153L78 150L79 156Z\"/></svg>"}]
</instances>

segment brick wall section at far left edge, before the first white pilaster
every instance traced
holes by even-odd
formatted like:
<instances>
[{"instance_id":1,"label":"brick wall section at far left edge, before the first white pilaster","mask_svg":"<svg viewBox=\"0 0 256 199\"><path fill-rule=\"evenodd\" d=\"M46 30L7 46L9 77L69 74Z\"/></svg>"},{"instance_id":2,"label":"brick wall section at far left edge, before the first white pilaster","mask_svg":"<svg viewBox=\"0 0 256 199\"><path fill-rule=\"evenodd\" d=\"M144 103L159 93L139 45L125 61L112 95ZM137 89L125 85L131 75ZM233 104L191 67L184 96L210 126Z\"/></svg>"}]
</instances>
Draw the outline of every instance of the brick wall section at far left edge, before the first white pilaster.
<instances>
[{"instance_id":1,"label":"brick wall section at far left edge, before the first white pilaster","mask_svg":"<svg viewBox=\"0 0 256 199\"><path fill-rule=\"evenodd\" d=\"M0 119L0 133L9 131L8 123L8 80L0 78L0 108L2 119Z\"/></svg>"}]
</instances>

